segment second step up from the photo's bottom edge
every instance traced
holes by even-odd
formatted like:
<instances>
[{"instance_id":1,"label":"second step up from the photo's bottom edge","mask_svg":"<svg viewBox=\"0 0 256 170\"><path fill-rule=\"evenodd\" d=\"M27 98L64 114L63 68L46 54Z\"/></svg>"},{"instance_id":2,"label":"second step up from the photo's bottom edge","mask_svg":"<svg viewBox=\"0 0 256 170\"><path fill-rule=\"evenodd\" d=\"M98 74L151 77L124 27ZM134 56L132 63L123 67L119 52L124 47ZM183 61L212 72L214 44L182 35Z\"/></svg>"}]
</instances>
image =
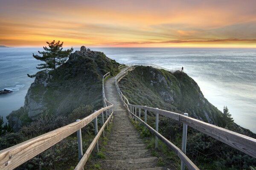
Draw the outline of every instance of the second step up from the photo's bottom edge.
<instances>
[{"instance_id":1,"label":"second step up from the photo's bottom edge","mask_svg":"<svg viewBox=\"0 0 256 170\"><path fill-rule=\"evenodd\" d=\"M107 159L138 159L138 158L150 158L150 150L128 150L128 151L116 151L116 152L105 152Z\"/></svg>"}]
</instances>

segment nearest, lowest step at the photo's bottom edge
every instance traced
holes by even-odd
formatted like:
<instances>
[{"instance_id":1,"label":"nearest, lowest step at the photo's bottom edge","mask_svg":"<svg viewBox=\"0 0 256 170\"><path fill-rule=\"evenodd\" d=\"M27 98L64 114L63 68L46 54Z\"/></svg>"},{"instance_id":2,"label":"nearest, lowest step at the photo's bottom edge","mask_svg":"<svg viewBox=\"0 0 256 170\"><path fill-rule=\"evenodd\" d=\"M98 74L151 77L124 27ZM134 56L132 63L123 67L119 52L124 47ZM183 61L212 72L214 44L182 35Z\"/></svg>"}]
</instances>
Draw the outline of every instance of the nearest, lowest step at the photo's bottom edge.
<instances>
[{"instance_id":1,"label":"nearest, lowest step at the photo's bottom edge","mask_svg":"<svg viewBox=\"0 0 256 170\"><path fill-rule=\"evenodd\" d=\"M105 170L134 170L141 168L157 167L157 157L125 159L125 160L103 160Z\"/></svg>"}]
</instances>

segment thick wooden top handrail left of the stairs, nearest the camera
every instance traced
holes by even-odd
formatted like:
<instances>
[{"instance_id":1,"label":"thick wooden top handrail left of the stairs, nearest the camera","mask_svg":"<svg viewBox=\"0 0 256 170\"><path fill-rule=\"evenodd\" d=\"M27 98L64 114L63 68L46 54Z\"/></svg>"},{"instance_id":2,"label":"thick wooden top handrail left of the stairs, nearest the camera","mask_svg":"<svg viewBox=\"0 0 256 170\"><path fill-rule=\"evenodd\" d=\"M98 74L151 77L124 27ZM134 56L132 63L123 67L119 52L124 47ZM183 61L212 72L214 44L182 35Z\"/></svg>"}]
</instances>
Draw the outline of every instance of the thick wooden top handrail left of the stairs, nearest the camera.
<instances>
[{"instance_id":1,"label":"thick wooden top handrail left of the stairs, nearest the camera","mask_svg":"<svg viewBox=\"0 0 256 170\"><path fill-rule=\"evenodd\" d=\"M88 125L93 119L113 105L99 109L89 116L81 119L79 122L74 122L64 127L60 127L41 136L35 137L28 141L22 142L15 146L0 151L0 170L14 169L24 162L37 156L39 153L47 150L49 147L60 142L62 139L75 133L77 130Z\"/></svg>"}]
</instances>

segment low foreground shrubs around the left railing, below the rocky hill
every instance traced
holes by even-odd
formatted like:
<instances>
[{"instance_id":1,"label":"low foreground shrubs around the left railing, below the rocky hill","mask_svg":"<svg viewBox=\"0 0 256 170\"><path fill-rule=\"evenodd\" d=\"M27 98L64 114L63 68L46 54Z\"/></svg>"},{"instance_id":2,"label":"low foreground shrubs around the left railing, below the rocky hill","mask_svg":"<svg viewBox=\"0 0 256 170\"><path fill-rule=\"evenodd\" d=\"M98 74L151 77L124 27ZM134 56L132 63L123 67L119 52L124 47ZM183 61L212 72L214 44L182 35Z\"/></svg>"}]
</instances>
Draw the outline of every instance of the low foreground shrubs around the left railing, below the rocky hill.
<instances>
[{"instance_id":1,"label":"low foreground shrubs around the left railing, below the rocky hill","mask_svg":"<svg viewBox=\"0 0 256 170\"><path fill-rule=\"evenodd\" d=\"M20 142L32 139L41 134L47 133L49 131L55 130L58 127L63 127L64 125L70 124L76 120L82 119L85 116L93 113L93 106L91 105L80 105L78 108L74 109L68 116L54 116L49 115L48 112L41 114L40 118L31 122L27 126L20 128L18 132L6 133L0 137L0 150L7 147L11 147ZM101 122L99 120L99 122ZM101 127L100 123L98 125L99 129ZM111 126L109 126L111 129ZM105 135L107 132L105 130ZM94 135L94 124L91 122L86 127L82 129L82 146L85 152L91 142L93 141ZM107 144L107 137L100 138L99 143L102 148ZM105 159L103 150L99 153L92 153L93 159L87 162L89 169L100 169L99 164L94 164L94 159ZM23 169L38 169L38 170L69 170L76 167L78 164L78 149L77 149L77 138L76 133L63 139L54 146L35 156L33 159L26 161L26 163L17 167L17 170Z\"/></svg>"}]
</instances>

